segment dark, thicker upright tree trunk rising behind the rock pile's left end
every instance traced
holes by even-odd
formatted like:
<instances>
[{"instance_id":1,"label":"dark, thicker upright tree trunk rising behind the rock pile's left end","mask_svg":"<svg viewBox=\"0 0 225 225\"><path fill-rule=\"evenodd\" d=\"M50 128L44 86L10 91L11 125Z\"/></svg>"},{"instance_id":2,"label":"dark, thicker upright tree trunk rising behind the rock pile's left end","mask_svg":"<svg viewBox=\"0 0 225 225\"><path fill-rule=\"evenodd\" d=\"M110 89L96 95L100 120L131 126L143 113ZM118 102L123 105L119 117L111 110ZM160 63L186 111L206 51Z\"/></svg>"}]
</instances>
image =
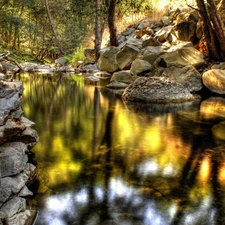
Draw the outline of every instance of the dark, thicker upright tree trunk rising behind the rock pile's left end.
<instances>
[{"instance_id":1,"label":"dark, thicker upright tree trunk rising behind the rock pile's left end","mask_svg":"<svg viewBox=\"0 0 225 225\"><path fill-rule=\"evenodd\" d=\"M116 0L111 0L108 8L108 26L110 33L110 46L118 46L116 25L115 25Z\"/></svg>"}]
</instances>

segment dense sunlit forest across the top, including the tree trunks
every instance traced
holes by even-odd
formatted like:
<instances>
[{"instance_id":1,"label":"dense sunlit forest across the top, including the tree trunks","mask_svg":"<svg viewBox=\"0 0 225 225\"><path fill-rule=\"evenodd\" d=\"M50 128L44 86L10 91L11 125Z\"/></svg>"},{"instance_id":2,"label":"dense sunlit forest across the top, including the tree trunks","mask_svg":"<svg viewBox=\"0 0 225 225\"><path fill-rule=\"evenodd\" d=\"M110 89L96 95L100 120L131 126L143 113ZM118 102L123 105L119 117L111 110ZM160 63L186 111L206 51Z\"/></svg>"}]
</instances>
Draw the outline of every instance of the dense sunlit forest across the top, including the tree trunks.
<instances>
[{"instance_id":1,"label":"dense sunlit forest across the top, including the tree trunks","mask_svg":"<svg viewBox=\"0 0 225 225\"><path fill-rule=\"evenodd\" d=\"M162 2L162 1L161 1ZM84 47L98 51L108 30L116 46L116 32L145 17L166 14L160 0L1 0L1 52L23 52L35 59L54 60L62 55L79 58ZM164 6L179 6L164 1ZM213 58L225 58L223 24L213 0L185 2L196 8L203 20L204 37ZM222 0L217 5L224 5ZM129 18L129 19L128 19ZM129 24L130 23L130 24ZM220 51L220 54L218 52ZM24 54L25 55L25 54ZM74 59L76 60L76 59Z\"/></svg>"}]
</instances>

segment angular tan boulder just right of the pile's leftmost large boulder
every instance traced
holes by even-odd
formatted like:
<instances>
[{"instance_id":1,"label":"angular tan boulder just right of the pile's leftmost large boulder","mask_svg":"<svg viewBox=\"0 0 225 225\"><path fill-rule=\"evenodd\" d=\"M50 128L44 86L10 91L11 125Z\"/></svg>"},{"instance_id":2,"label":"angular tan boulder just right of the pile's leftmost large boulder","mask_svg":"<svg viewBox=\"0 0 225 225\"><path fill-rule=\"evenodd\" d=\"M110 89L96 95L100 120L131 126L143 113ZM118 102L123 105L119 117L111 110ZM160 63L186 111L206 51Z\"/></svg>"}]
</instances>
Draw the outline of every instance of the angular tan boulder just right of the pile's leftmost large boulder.
<instances>
[{"instance_id":1,"label":"angular tan boulder just right of the pile's leftmost large boulder","mask_svg":"<svg viewBox=\"0 0 225 225\"><path fill-rule=\"evenodd\" d=\"M116 62L119 69L127 69L136 58L139 49L131 46L125 45L117 54L116 54Z\"/></svg>"}]
</instances>

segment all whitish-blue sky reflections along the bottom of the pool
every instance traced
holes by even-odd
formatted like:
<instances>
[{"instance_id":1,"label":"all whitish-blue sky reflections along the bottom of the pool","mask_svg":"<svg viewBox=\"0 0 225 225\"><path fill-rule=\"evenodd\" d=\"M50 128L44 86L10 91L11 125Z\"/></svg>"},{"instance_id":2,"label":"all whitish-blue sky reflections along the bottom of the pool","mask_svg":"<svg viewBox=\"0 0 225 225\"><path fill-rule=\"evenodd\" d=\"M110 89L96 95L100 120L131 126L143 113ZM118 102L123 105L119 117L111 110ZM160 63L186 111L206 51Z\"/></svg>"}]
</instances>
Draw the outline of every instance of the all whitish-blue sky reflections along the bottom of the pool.
<instances>
[{"instance_id":1,"label":"all whitish-blue sky reflections along the bottom of the pool","mask_svg":"<svg viewBox=\"0 0 225 225\"><path fill-rule=\"evenodd\" d=\"M39 214L39 217L41 217L39 221L42 221L42 225L68 225L64 221L67 215L70 215L70 217L72 215L73 221L79 221L79 218L86 212L85 210L90 204L88 193L87 188L82 188L77 193L67 192L50 196L46 199L46 205ZM96 200L94 204L102 203L104 194L104 189L95 187L94 195ZM106 207L103 203L102 205ZM205 221L205 224L213 224L215 209L210 208L211 205L212 199L205 198L197 210L190 209L184 212L180 224L197 224L203 221ZM115 222L127 225L134 224L133 218L129 215L132 215L132 211L135 210L135 214L142 225L169 225L181 206L179 206L178 202L171 201L168 202L167 207L162 207L154 199L148 199L135 190L134 187L126 185L121 178L111 180L108 192L108 210ZM98 224L98 222L94 221L89 222L92 225Z\"/></svg>"}]
</instances>

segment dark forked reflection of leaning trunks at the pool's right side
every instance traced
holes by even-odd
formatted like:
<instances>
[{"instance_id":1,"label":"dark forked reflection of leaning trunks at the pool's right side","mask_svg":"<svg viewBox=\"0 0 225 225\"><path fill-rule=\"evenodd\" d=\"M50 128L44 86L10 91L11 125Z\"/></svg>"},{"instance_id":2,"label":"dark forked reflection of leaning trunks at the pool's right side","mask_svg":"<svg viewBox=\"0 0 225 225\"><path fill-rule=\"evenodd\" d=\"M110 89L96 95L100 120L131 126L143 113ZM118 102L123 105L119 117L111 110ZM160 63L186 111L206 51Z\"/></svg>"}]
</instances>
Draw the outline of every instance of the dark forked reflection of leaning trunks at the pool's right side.
<instances>
[{"instance_id":1,"label":"dark forked reflection of leaning trunks at the pool's right side","mask_svg":"<svg viewBox=\"0 0 225 225\"><path fill-rule=\"evenodd\" d=\"M199 127L200 126L200 127ZM176 214L171 222L172 225L183 224L182 222L187 213L187 209L192 205L189 196L192 189L197 185L197 178L200 173L201 165L206 157L210 159L210 175L211 180L211 190L213 197L212 210L215 207L216 213L213 221L215 224L224 224L224 204L223 197L221 196L221 187L219 183L219 170L222 165L221 151L214 149L214 140L212 138L211 126L204 126L199 124L195 127L195 130L204 130L204 135L202 133L193 131L192 148L189 158L186 161L185 166L182 170L182 175L180 179L180 185L176 187L174 192L179 193L179 204L177 206ZM195 133L195 134L194 134ZM211 149L210 149L211 148ZM209 150L210 149L210 150ZM204 188L204 187L203 187ZM209 214L213 212L208 212ZM207 218L202 218L200 223L211 224L212 221L206 221ZM196 221L197 223L197 221Z\"/></svg>"}]
</instances>

